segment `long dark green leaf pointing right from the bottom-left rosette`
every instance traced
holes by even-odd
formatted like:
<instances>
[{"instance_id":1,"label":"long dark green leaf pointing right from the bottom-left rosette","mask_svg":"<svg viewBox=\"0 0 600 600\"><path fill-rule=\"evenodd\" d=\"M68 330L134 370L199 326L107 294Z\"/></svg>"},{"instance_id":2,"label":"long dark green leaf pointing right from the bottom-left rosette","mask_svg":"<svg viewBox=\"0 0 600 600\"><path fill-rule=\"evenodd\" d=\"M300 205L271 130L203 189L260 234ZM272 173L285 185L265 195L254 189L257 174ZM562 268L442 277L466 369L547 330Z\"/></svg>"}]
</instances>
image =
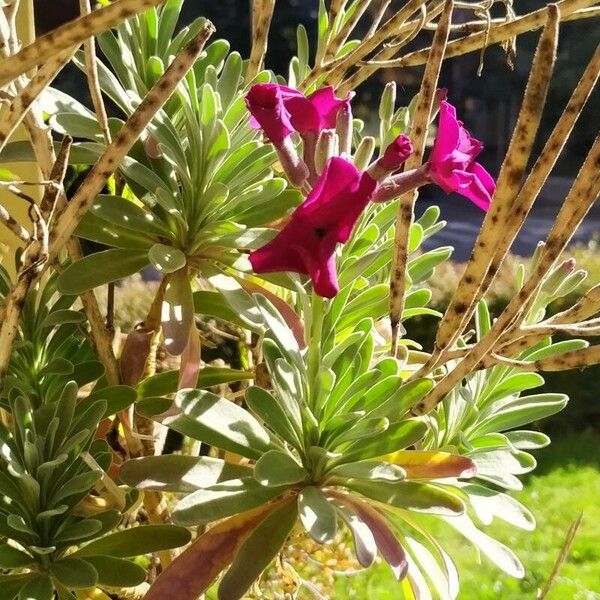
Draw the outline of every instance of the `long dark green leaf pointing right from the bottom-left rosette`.
<instances>
[{"instance_id":1,"label":"long dark green leaf pointing right from the bottom-left rosette","mask_svg":"<svg viewBox=\"0 0 600 600\"><path fill-rule=\"evenodd\" d=\"M107 555L128 558L160 550L180 548L191 539L190 532L176 525L143 525L111 533L84 546L71 556Z\"/></svg>"}]
</instances>

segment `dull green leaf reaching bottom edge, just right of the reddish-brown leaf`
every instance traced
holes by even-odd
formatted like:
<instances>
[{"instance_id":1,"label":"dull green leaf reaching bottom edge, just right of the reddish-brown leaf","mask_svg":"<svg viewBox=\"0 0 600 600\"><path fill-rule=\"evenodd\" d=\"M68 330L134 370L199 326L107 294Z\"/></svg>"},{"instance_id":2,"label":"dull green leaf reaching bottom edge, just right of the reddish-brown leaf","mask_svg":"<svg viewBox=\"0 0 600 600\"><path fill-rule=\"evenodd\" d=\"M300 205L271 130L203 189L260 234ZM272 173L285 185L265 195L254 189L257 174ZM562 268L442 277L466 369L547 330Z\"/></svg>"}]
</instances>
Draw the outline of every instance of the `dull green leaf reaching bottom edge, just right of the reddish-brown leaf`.
<instances>
[{"instance_id":1,"label":"dull green leaf reaching bottom edge, just right of the reddish-brown leaf","mask_svg":"<svg viewBox=\"0 0 600 600\"><path fill-rule=\"evenodd\" d=\"M250 534L219 584L219 600L239 600L277 556L298 518L283 504L268 514Z\"/></svg>"}]
</instances>

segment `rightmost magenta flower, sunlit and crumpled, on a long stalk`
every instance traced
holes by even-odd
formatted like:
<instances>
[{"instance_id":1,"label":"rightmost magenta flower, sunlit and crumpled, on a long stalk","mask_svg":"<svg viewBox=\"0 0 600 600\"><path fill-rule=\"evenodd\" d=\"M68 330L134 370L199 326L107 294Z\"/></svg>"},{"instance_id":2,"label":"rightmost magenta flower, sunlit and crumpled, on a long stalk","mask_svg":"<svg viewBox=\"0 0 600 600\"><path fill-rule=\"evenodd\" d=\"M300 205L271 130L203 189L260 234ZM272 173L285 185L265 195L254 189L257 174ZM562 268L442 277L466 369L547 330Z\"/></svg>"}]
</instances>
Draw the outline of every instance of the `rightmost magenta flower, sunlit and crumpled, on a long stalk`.
<instances>
[{"instance_id":1,"label":"rightmost magenta flower, sunlit and crumpled, on a long stalk","mask_svg":"<svg viewBox=\"0 0 600 600\"><path fill-rule=\"evenodd\" d=\"M443 100L427 175L446 193L457 192L487 211L496 184L483 166L475 162L482 150L483 144L471 137L456 118L456 108Z\"/></svg>"}]
</instances>

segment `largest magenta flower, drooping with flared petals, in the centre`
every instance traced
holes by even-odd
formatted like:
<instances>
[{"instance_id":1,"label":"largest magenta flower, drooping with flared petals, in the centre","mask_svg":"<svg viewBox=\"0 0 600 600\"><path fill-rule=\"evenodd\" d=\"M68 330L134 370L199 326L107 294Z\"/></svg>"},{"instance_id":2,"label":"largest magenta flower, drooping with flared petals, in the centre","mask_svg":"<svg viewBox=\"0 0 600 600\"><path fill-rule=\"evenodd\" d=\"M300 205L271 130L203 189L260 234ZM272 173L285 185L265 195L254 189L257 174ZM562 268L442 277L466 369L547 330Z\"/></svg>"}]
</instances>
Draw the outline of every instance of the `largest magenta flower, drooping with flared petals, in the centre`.
<instances>
[{"instance_id":1,"label":"largest magenta flower, drooping with flared petals, in the centre","mask_svg":"<svg viewBox=\"0 0 600 600\"><path fill-rule=\"evenodd\" d=\"M306 200L268 244L250 254L256 273L293 271L309 275L320 296L339 291L335 248L348 241L377 182L351 162L334 156Z\"/></svg>"}]
</instances>

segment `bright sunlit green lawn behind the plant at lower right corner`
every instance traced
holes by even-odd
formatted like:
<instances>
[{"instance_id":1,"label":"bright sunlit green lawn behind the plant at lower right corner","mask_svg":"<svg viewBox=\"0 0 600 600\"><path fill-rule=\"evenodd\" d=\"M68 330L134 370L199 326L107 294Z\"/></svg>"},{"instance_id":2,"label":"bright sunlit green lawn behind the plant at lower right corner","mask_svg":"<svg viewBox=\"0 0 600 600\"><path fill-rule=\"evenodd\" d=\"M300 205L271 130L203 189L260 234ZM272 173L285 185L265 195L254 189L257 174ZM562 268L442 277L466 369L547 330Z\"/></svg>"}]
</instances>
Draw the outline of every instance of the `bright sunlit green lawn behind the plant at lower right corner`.
<instances>
[{"instance_id":1,"label":"bright sunlit green lawn behind the plant at lower right corner","mask_svg":"<svg viewBox=\"0 0 600 600\"><path fill-rule=\"evenodd\" d=\"M533 532L501 521L488 532L515 551L526 569L524 579L504 575L460 538L439 539L455 558L461 578L460 600L535 600L564 542L570 524L583 512L571 553L547 600L600 600L600 435L556 440L537 453L539 466L516 497L537 519ZM386 565L340 577L335 598L400 600L400 589Z\"/></svg>"}]
</instances>

